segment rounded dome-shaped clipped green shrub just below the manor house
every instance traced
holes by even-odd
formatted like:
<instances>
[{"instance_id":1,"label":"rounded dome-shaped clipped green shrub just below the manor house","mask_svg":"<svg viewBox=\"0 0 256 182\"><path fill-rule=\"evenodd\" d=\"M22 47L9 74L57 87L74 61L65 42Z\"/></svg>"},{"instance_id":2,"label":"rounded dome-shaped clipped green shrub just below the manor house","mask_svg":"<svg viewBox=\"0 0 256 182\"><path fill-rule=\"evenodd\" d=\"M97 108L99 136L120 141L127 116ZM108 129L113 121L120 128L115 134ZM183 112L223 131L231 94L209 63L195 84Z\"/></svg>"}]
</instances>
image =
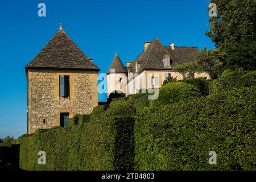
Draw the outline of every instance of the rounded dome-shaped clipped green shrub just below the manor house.
<instances>
[{"instance_id":1,"label":"rounded dome-shaped clipped green shrub just below the manor house","mask_svg":"<svg viewBox=\"0 0 256 182\"><path fill-rule=\"evenodd\" d=\"M152 100L155 106L173 104L201 97L200 90L191 84L184 82L170 82L159 89L158 99Z\"/></svg>"}]
</instances>

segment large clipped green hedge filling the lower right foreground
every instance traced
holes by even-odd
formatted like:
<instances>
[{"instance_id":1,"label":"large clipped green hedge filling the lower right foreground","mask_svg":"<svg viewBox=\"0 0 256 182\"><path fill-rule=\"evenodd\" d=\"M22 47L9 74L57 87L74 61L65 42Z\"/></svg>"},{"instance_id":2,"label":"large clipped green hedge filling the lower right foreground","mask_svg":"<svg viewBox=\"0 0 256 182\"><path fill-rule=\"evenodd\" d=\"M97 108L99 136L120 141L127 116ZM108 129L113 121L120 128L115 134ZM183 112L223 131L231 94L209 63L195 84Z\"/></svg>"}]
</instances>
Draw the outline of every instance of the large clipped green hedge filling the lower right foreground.
<instances>
[{"instance_id":1,"label":"large clipped green hedge filling the lower right foreground","mask_svg":"<svg viewBox=\"0 0 256 182\"><path fill-rule=\"evenodd\" d=\"M256 87L144 107L135 118L137 170L255 170ZM209 151L217 152L210 165Z\"/></svg>"}]
</instances>

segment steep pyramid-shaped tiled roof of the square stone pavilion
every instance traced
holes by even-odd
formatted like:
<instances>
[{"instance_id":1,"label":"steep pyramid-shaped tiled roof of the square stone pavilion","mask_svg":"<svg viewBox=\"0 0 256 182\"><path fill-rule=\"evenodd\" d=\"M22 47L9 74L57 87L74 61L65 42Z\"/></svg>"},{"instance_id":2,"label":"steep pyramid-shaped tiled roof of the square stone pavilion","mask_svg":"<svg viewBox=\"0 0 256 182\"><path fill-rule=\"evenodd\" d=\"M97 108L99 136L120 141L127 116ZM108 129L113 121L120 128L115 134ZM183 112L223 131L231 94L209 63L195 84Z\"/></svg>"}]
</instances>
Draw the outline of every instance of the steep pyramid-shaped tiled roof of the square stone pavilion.
<instances>
[{"instance_id":1,"label":"steep pyramid-shaped tiled roof of the square stone pavilion","mask_svg":"<svg viewBox=\"0 0 256 182\"><path fill-rule=\"evenodd\" d=\"M61 26L38 55L27 64L27 68L89 69L100 71L100 68L88 59L84 52L63 31Z\"/></svg>"}]
</instances>

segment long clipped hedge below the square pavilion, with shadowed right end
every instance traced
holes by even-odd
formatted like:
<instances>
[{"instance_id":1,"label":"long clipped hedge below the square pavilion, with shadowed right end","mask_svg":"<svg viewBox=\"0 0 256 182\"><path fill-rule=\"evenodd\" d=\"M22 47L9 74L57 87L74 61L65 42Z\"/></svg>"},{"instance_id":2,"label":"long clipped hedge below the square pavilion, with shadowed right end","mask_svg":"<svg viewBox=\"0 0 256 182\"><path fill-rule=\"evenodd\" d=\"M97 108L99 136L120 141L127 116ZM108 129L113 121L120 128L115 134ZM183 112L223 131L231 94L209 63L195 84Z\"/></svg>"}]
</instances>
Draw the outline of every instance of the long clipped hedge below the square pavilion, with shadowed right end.
<instances>
[{"instance_id":1,"label":"long clipped hedge below the square pavilion, with shadowed right end","mask_svg":"<svg viewBox=\"0 0 256 182\"><path fill-rule=\"evenodd\" d=\"M132 132L134 107L121 103L110 106L103 115L97 114L98 111L95 111L90 115L89 121L81 121L79 125L68 128L53 127L43 133L38 131L32 136L20 137L18 139L20 168L26 170L131 169L134 162ZM80 120L82 118L80 117ZM39 151L46 152L46 165L38 164Z\"/></svg>"}]
</instances>

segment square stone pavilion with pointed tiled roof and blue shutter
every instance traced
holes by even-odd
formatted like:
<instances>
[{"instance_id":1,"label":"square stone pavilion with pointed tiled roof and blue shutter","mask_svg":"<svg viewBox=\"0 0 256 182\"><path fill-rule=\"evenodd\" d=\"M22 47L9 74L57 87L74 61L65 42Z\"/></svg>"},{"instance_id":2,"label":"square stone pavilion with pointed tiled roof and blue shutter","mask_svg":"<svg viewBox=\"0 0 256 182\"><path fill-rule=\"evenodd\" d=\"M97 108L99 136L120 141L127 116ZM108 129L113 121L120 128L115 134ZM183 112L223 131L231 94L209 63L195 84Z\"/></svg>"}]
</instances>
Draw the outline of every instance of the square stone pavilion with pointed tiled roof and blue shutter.
<instances>
[{"instance_id":1,"label":"square stone pavilion with pointed tiled roof and blue shutter","mask_svg":"<svg viewBox=\"0 0 256 182\"><path fill-rule=\"evenodd\" d=\"M67 127L68 118L89 114L98 105L100 69L76 46L61 25L25 68L27 133L53 126Z\"/></svg>"}]
</instances>

